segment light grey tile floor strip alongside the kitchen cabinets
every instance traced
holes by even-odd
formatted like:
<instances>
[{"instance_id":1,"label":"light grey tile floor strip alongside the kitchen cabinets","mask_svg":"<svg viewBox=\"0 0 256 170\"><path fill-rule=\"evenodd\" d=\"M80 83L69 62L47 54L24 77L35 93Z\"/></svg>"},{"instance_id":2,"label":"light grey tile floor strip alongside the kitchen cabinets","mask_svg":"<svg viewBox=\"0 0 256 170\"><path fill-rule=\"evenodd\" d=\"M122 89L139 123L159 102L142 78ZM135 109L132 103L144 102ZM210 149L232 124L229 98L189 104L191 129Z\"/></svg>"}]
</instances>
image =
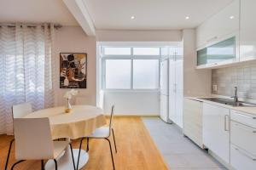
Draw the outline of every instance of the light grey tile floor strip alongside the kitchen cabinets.
<instances>
[{"instance_id":1,"label":"light grey tile floor strip alongside the kitchen cabinets","mask_svg":"<svg viewBox=\"0 0 256 170\"><path fill-rule=\"evenodd\" d=\"M223 165L201 150L173 124L157 117L143 117L154 143L172 170L223 170Z\"/></svg>"}]
</instances>

